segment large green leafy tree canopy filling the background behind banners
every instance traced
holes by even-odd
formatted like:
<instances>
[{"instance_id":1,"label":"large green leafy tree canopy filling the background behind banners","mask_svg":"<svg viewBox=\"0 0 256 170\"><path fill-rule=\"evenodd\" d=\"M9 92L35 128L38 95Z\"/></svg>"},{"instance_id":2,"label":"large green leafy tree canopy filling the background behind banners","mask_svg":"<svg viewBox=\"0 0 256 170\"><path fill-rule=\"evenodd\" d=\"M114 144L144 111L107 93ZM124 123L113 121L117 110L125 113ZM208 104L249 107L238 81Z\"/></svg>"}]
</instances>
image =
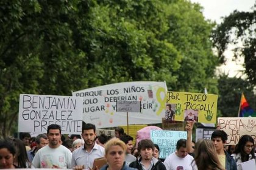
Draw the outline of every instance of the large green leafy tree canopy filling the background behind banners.
<instances>
[{"instance_id":1,"label":"large green leafy tree canopy filling the background behind banners","mask_svg":"<svg viewBox=\"0 0 256 170\"><path fill-rule=\"evenodd\" d=\"M216 94L213 24L185 0L0 2L0 128L20 94L71 95L123 81Z\"/></svg>"}]
</instances>

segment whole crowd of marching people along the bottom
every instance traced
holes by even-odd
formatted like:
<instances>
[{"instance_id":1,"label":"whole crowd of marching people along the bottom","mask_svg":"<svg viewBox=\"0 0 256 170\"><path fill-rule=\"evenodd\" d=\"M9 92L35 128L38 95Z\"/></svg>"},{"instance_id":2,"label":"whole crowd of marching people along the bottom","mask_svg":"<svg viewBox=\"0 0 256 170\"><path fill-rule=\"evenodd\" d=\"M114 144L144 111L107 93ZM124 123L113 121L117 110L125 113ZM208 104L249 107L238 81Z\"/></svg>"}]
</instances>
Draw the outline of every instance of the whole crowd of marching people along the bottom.
<instances>
[{"instance_id":1,"label":"whole crowd of marching people along the bottom","mask_svg":"<svg viewBox=\"0 0 256 170\"><path fill-rule=\"evenodd\" d=\"M47 134L30 138L0 140L0 168L63 168L93 170L241 170L241 163L255 160L255 143L251 135L243 135L235 147L226 149L227 134L217 129L211 140L192 141L193 122L186 126L187 138L176 143L176 152L165 160L152 140L144 139L133 146L133 137L117 127L115 137L96 135L94 124L82 126L81 135L65 139L60 126L51 124ZM233 149L232 149L233 148ZM227 150L227 151L226 151ZM102 158L105 165L95 160Z\"/></svg>"}]
</instances>

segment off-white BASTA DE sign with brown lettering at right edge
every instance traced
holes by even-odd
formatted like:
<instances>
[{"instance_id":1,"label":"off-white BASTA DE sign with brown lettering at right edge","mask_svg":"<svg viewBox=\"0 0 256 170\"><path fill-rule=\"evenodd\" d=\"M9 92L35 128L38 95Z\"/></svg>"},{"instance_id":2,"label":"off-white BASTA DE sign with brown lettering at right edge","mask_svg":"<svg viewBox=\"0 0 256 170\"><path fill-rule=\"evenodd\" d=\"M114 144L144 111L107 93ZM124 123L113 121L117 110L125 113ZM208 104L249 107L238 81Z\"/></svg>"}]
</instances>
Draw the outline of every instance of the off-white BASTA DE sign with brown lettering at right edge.
<instances>
[{"instance_id":1,"label":"off-white BASTA DE sign with brown lettering at right edge","mask_svg":"<svg viewBox=\"0 0 256 170\"><path fill-rule=\"evenodd\" d=\"M242 135L251 135L256 142L256 117L219 117L219 128L228 135L227 144L237 144Z\"/></svg>"}]
</instances>

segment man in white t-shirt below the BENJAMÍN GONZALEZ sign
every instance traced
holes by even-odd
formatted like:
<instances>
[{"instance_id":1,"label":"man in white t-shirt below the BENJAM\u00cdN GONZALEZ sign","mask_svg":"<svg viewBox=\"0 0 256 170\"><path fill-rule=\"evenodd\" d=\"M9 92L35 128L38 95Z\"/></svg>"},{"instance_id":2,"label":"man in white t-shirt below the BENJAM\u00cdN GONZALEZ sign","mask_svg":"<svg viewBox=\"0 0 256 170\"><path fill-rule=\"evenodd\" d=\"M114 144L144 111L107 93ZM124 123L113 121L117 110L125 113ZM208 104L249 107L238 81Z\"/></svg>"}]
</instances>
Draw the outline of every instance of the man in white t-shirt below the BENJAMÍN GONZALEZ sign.
<instances>
[{"instance_id":1,"label":"man in white t-shirt below the BENJAM\u00cdN GONZALEZ sign","mask_svg":"<svg viewBox=\"0 0 256 170\"><path fill-rule=\"evenodd\" d=\"M62 136L58 124L51 124L47 128L49 144L41 148L32 161L32 168L64 168L71 167L72 153L60 144Z\"/></svg>"}]
</instances>

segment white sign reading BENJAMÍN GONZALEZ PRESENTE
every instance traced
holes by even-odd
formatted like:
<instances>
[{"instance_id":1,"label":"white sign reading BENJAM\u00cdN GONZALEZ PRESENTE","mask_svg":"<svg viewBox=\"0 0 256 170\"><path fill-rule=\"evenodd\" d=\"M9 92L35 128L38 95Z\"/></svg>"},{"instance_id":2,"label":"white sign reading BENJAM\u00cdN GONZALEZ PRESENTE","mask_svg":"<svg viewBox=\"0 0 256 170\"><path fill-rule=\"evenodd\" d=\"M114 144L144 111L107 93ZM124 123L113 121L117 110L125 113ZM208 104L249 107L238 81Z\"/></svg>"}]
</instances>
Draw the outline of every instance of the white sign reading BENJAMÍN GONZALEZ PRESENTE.
<instances>
[{"instance_id":1,"label":"white sign reading BENJAM\u00cdN GONZALEZ PRESENTE","mask_svg":"<svg viewBox=\"0 0 256 170\"><path fill-rule=\"evenodd\" d=\"M18 131L46 133L59 124L62 134L81 134L82 104L80 97L21 94Z\"/></svg>"}]
</instances>

